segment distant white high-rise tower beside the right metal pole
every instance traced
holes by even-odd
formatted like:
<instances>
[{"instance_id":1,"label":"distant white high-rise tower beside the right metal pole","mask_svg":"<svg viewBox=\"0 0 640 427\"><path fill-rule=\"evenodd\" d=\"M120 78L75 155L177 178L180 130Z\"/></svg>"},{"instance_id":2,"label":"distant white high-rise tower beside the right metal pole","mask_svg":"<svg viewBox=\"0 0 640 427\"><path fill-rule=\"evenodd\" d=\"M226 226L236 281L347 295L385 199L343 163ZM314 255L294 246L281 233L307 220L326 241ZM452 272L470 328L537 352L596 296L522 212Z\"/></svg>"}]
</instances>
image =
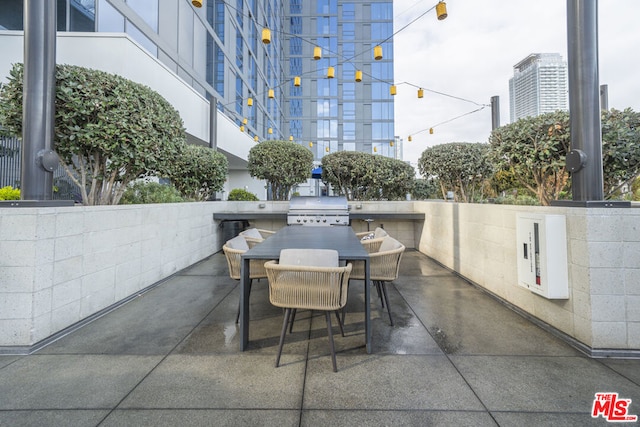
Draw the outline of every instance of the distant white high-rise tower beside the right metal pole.
<instances>
[{"instance_id":1,"label":"distant white high-rise tower beside the right metal pole","mask_svg":"<svg viewBox=\"0 0 640 427\"><path fill-rule=\"evenodd\" d=\"M532 53L513 67L509 79L511 122L567 110L567 63L558 53Z\"/></svg>"}]
</instances>

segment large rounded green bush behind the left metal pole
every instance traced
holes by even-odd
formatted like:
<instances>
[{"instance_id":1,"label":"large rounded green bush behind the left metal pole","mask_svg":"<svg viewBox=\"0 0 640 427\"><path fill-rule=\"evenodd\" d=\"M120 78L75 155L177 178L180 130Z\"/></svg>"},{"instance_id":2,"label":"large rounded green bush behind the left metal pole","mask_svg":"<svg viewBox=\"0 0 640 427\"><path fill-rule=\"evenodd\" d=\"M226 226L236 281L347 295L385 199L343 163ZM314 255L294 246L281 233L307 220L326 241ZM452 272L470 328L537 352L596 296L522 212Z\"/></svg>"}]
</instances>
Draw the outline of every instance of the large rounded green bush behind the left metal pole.
<instances>
[{"instance_id":1,"label":"large rounded green bush behind the left metal pole","mask_svg":"<svg viewBox=\"0 0 640 427\"><path fill-rule=\"evenodd\" d=\"M22 134L23 65L0 90L0 124ZM185 147L178 112L158 93L123 77L56 66L54 150L85 205L117 204L127 184L167 176Z\"/></svg>"}]
</instances>

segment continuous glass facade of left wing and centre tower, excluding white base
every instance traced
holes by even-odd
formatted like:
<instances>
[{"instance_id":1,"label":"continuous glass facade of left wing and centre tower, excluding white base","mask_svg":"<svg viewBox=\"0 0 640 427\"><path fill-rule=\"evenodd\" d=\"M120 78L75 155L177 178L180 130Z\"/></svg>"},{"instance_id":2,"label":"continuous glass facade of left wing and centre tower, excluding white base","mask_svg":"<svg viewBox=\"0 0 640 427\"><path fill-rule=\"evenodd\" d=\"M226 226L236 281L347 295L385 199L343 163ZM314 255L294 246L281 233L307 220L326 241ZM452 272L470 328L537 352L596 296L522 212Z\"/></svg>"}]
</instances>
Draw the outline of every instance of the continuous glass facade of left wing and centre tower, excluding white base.
<instances>
[{"instance_id":1,"label":"continuous glass facade of left wing and centre tower, excluding white base","mask_svg":"<svg viewBox=\"0 0 640 427\"><path fill-rule=\"evenodd\" d=\"M251 137L292 139L316 160L341 150L394 155L392 1L56 1L59 31L128 34ZM1 29L23 29L23 2L0 0Z\"/></svg>"}]
</instances>

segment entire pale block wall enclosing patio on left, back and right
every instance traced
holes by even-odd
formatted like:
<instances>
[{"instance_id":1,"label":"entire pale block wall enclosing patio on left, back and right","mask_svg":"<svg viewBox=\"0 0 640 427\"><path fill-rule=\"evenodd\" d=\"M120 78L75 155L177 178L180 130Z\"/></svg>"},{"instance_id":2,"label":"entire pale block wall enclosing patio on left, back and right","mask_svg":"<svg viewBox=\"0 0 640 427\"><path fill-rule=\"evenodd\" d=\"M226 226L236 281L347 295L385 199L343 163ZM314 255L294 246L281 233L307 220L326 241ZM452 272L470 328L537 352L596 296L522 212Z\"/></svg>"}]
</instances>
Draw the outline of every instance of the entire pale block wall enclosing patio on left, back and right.
<instances>
[{"instance_id":1,"label":"entire pale block wall enclosing patio on left, back and right","mask_svg":"<svg viewBox=\"0 0 640 427\"><path fill-rule=\"evenodd\" d=\"M595 354L640 352L640 209L350 204L361 212L424 213L424 223L385 219L385 229ZM287 202L2 208L0 352L28 350L217 252L222 233L214 212L287 209ZM516 285L518 212L566 216L568 299L548 300ZM281 219L251 223L285 226ZM364 221L352 225L366 230Z\"/></svg>"}]
</instances>

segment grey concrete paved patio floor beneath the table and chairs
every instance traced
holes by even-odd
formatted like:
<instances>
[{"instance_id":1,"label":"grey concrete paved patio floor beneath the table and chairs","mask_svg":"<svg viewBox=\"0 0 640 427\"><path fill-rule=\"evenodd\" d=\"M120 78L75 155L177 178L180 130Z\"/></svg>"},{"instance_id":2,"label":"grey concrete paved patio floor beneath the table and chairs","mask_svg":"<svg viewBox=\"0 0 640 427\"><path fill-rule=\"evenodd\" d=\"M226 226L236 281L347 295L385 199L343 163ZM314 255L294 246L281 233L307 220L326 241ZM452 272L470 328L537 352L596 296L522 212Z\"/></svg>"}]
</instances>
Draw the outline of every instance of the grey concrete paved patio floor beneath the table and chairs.
<instances>
[{"instance_id":1,"label":"grey concrete paved patio floor beneath the table and chairs","mask_svg":"<svg viewBox=\"0 0 640 427\"><path fill-rule=\"evenodd\" d=\"M254 282L240 352L238 286L217 253L34 354L0 356L0 426L605 425L597 392L640 415L640 360L588 358L419 252L400 272L395 326L372 292L372 354L354 281L338 372L310 312L274 368L282 311Z\"/></svg>"}]
</instances>

